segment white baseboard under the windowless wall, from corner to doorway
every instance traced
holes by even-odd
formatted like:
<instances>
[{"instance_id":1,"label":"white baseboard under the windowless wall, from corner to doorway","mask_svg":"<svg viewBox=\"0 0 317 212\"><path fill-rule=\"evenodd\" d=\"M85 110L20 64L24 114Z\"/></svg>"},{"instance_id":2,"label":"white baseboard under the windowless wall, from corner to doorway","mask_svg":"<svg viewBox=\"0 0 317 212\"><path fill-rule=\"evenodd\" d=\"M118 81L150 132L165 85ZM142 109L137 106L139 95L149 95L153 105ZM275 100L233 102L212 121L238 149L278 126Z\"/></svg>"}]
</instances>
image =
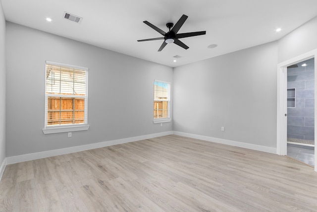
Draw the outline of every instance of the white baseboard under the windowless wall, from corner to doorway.
<instances>
[{"instance_id":1,"label":"white baseboard under the windowless wall, from corner to doorway","mask_svg":"<svg viewBox=\"0 0 317 212\"><path fill-rule=\"evenodd\" d=\"M231 146L238 146L238 147L243 147L243 148L248 148L248 149L253 149L253 150L264 151L264 152L276 154L276 148L274 148L274 147L262 146L262 145L251 144L251 143L244 143L244 142L239 142L239 141L230 141L230 140L225 140L225 139L217 139L217 138L200 136L200 135L189 134L189 133L182 133L182 132L177 132L177 131L173 131L173 134L177 135L177 136L184 136L184 137L192 138L192 139L211 141L211 142L215 142L215 143L222 143L222 144L227 144L227 145L231 145Z\"/></svg>"}]
</instances>

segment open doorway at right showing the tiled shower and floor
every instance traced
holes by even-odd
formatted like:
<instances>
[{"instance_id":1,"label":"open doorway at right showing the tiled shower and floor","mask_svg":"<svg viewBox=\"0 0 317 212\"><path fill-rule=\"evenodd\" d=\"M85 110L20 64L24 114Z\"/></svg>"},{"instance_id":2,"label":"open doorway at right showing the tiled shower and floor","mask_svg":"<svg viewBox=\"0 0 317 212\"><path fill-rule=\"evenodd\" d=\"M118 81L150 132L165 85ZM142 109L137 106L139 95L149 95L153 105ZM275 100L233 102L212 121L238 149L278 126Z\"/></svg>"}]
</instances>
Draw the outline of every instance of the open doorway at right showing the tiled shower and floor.
<instances>
[{"instance_id":1,"label":"open doorway at right showing the tiled shower and floor","mask_svg":"<svg viewBox=\"0 0 317 212\"><path fill-rule=\"evenodd\" d=\"M287 67L287 155L315 166L315 59Z\"/></svg>"}]
</instances>

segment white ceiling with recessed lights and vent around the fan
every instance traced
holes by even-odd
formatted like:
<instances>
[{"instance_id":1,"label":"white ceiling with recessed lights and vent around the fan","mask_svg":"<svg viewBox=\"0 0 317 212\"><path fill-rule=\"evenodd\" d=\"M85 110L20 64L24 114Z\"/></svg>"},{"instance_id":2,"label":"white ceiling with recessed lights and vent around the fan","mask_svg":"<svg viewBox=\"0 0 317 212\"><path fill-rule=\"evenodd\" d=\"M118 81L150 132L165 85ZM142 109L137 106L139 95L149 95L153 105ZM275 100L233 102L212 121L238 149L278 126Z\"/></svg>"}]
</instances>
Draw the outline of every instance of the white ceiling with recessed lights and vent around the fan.
<instances>
[{"instance_id":1,"label":"white ceiling with recessed lights and vent around the fan","mask_svg":"<svg viewBox=\"0 0 317 212\"><path fill-rule=\"evenodd\" d=\"M317 15L317 0L1 0L7 21L71 38L101 48L177 67L275 41ZM83 17L63 18L64 11ZM161 35L187 15L178 33L207 31L180 39L185 50L163 40L137 42ZM52 22L46 18L52 18ZM282 31L275 32L276 28ZM216 48L207 48L217 44ZM173 56L181 56L174 63Z\"/></svg>"}]
</instances>

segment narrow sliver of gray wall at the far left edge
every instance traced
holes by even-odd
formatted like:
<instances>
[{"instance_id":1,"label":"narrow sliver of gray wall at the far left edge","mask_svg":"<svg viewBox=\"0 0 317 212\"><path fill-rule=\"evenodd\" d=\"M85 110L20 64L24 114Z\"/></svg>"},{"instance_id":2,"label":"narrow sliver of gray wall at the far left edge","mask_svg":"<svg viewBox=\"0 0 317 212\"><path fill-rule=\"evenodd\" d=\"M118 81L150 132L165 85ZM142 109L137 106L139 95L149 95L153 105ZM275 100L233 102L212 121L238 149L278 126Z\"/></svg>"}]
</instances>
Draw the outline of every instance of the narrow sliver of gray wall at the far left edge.
<instances>
[{"instance_id":1,"label":"narrow sliver of gray wall at the far left edge","mask_svg":"<svg viewBox=\"0 0 317 212\"><path fill-rule=\"evenodd\" d=\"M0 166L5 158L5 20L0 2Z\"/></svg>"}]
</instances>

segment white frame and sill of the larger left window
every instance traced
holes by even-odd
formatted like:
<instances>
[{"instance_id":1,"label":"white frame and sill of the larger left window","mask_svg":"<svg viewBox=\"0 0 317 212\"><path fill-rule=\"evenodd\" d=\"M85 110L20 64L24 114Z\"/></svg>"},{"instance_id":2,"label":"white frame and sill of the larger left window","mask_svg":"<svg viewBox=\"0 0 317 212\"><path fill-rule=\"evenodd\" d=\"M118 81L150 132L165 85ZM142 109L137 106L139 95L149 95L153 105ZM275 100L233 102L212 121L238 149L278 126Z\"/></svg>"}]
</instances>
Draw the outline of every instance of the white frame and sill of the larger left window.
<instances>
[{"instance_id":1,"label":"white frame and sill of the larger left window","mask_svg":"<svg viewBox=\"0 0 317 212\"><path fill-rule=\"evenodd\" d=\"M66 132L75 132L75 131L85 131L89 129L88 125L88 68L85 67L79 67L79 66L73 66L68 64L61 64L51 61L46 61L45 63L45 73L46 73L46 65L56 65L56 66L62 66L62 67L68 67L68 68L74 68L74 69L80 69L86 71L86 96L80 96L80 98L85 98L85 106L84 106L84 124L67 124L63 126L49 126L48 125L48 97L54 96L54 97L74 97L72 95L57 95L57 94L47 94L46 93L46 84L47 84L47 77L45 74L45 123L44 123L44 134L53 134L53 133L66 133Z\"/></svg>"}]
</instances>

